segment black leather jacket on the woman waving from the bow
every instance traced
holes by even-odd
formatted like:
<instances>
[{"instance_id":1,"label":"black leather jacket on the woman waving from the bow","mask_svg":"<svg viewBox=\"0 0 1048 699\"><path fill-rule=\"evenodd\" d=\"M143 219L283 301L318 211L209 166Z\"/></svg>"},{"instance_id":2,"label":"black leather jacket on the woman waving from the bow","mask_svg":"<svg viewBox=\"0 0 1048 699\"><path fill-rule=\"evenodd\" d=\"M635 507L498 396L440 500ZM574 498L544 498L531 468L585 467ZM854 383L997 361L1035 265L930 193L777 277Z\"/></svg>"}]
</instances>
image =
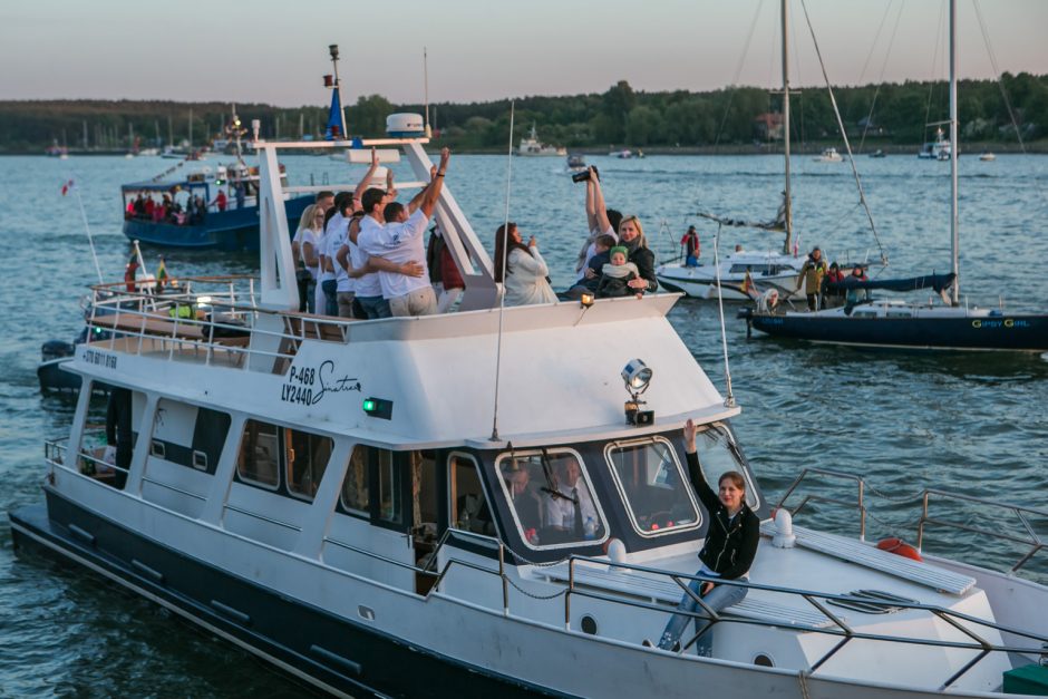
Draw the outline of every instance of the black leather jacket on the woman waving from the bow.
<instances>
[{"instance_id":1,"label":"black leather jacket on the woman waving from the bow","mask_svg":"<svg viewBox=\"0 0 1048 699\"><path fill-rule=\"evenodd\" d=\"M699 552L699 560L725 580L741 577L754 564L754 557L757 555L760 520L745 501L735 517L728 517L728 508L706 483L702 469L699 468L698 455L691 453L686 456L691 485L709 513L706 545Z\"/></svg>"}]
</instances>

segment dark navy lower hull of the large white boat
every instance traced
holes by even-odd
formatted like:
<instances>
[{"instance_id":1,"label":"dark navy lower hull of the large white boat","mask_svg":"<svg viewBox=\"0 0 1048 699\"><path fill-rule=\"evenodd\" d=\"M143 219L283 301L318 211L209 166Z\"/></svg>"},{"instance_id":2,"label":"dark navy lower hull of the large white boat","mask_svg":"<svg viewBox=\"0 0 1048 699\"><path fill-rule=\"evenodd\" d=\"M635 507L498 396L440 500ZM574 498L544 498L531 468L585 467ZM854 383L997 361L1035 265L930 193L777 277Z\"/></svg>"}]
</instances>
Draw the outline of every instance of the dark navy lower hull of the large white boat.
<instances>
[{"instance_id":1,"label":"dark navy lower hull of the large white boat","mask_svg":"<svg viewBox=\"0 0 1048 699\"><path fill-rule=\"evenodd\" d=\"M10 513L16 551L77 563L343 697L565 696L426 651L146 540L52 489ZM161 573L163 571L163 573ZM235 600L235 609L217 602Z\"/></svg>"}]
</instances>

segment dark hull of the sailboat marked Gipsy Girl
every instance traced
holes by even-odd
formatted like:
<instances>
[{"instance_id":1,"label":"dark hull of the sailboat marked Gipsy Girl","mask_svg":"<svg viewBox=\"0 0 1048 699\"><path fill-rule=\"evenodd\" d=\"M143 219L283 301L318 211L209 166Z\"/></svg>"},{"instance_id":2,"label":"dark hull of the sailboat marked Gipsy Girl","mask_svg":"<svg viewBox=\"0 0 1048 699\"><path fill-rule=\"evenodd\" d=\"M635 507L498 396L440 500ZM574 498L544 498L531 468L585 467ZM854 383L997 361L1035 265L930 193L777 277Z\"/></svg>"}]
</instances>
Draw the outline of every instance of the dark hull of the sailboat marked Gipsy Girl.
<instances>
[{"instance_id":1,"label":"dark hull of the sailboat marked Gipsy Girl","mask_svg":"<svg viewBox=\"0 0 1048 699\"><path fill-rule=\"evenodd\" d=\"M989 318L848 318L751 313L770 336L833 344L930 350L1048 351L1048 315Z\"/></svg>"}]
</instances>

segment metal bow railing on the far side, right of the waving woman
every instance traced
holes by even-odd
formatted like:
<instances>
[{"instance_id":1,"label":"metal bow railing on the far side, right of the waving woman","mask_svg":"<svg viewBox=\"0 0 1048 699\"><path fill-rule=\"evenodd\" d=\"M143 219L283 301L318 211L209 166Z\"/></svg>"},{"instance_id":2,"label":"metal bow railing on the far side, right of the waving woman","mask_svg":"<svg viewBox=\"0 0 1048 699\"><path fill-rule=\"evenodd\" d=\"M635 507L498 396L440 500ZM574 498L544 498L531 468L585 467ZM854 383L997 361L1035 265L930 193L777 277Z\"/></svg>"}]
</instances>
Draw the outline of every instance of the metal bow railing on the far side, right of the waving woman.
<instances>
[{"instance_id":1,"label":"metal bow railing on the far side, right of the waving woman","mask_svg":"<svg viewBox=\"0 0 1048 699\"><path fill-rule=\"evenodd\" d=\"M855 483L855 498L843 499L818 493L799 492L797 488L800 486L802 482L811 476L852 480ZM784 507L787 499L794 495L794 493L803 493L800 502L795 507L789 509L790 514L794 516L799 514L800 511L809 503L833 503L836 505L842 505L845 508L853 508L858 513L860 540L865 541L866 518L867 515L870 515L867 507L867 492L872 492L896 504L920 502L920 515L915 520L918 551L923 551L925 545L925 530L929 527L938 526L952 528L960 532L967 532L969 534L977 534L980 537L983 537L980 538L980 546L984 546L986 541L990 538L1000 543L1007 542L1009 544L1016 544L1026 547L1026 551L1022 553L1020 559L1009 569L1010 573L1017 573L1035 556L1037 556L1037 554L1044 552L1046 547L1048 547L1048 541L1046 541L1045 536L1038 533L1035 526L1035 523L1038 523L1041 526L1045 526L1045 524L1048 523L1048 511L935 488L924 488L913 496L887 497L881 495L874 488L871 488L861 476L826 468L805 468L802 470L800 475L794 479L789 487L786 488L783 496L779 497L775 507ZM937 504L940 505L939 509L937 509L937 513L939 511L944 511L942 514L932 512L933 505ZM989 512L980 513L980 508L984 511L992 511L992 522L994 526L989 526L988 524L980 525L978 523L980 518L983 522L990 522L991 517ZM1000 526L1005 515L1013 517L1017 526ZM974 524L973 521L976 522ZM911 523L913 522L914 521L911 521ZM1044 560L1044 555L1038 560Z\"/></svg>"}]
</instances>

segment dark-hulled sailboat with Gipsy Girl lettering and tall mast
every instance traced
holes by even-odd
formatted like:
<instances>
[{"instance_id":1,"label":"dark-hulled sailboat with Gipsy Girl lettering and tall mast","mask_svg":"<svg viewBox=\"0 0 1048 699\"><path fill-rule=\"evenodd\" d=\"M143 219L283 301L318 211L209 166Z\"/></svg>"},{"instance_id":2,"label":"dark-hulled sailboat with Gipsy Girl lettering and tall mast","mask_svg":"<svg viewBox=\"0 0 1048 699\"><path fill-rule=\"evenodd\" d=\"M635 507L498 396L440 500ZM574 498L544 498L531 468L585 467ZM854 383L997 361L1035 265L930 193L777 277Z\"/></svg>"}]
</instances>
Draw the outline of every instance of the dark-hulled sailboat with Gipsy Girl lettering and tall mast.
<instances>
[{"instance_id":1,"label":"dark-hulled sailboat with Gipsy Girl lettering and tall mast","mask_svg":"<svg viewBox=\"0 0 1048 699\"><path fill-rule=\"evenodd\" d=\"M950 148L958 153L957 108L957 0L950 0ZM1048 314L1009 313L1001 308L960 303L958 235L958 158L950 158L952 271L945 275L908 280L848 281L827 284L827 291L851 292L852 302L814 312L783 312L773 292L758 300L757 309L740 313L750 328L783 338L832 344L929 350L1048 351ZM857 298L871 290L932 289L942 304L908 303L896 299Z\"/></svg>"}]
</instances>

